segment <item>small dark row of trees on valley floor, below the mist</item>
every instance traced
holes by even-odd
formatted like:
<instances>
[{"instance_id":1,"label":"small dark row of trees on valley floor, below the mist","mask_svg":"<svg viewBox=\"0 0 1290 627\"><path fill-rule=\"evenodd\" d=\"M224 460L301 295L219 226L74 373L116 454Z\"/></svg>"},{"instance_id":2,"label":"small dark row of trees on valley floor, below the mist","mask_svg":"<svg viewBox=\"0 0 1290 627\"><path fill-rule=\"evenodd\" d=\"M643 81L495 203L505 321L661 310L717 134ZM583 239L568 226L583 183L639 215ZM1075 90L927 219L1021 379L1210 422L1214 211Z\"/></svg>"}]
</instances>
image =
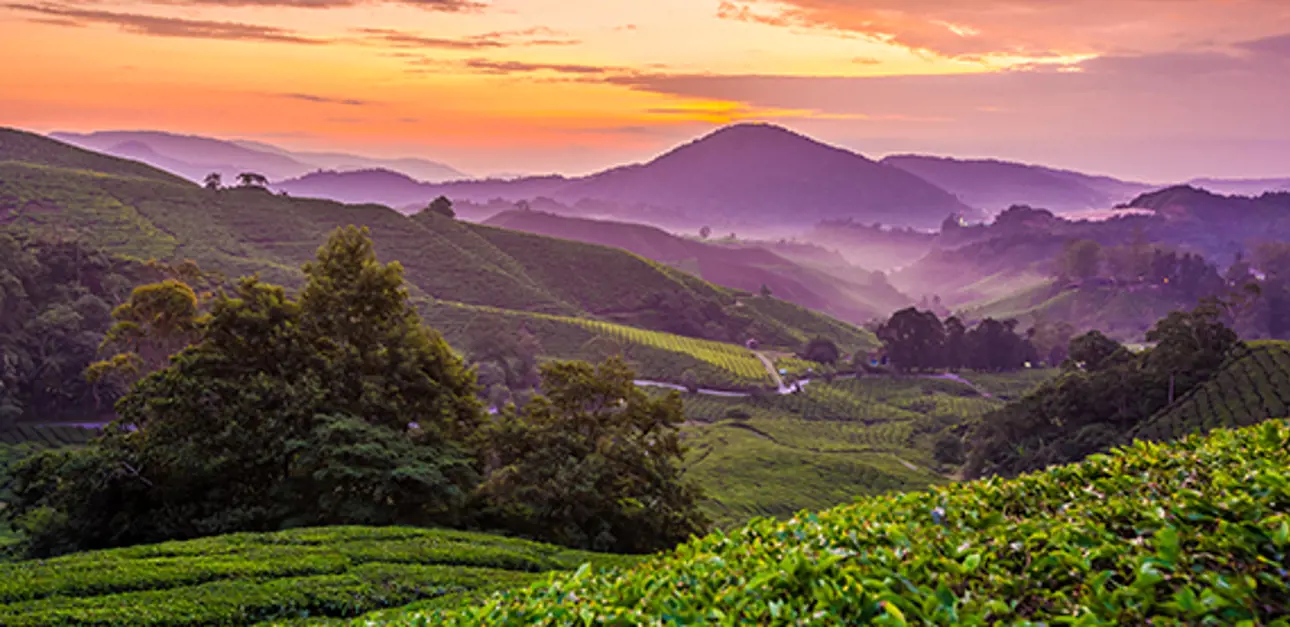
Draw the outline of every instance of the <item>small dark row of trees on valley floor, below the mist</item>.
<instances>
[{"instance_id":1,"label":"small dark row of trees on valley floor, below the mist","mask_svg":"<svg viewBox=\"0 0 1290 627\"><path fill-rule=\"evenodd\" d=\"M982 320L969 328L956 316L942 320L933 311L900 310L877 328L891 368L898 372L1005 372L1040 361L1060 364L1075 329L1037 324L1024 334L1017 320Z\"/></svg>"}]
</instances>

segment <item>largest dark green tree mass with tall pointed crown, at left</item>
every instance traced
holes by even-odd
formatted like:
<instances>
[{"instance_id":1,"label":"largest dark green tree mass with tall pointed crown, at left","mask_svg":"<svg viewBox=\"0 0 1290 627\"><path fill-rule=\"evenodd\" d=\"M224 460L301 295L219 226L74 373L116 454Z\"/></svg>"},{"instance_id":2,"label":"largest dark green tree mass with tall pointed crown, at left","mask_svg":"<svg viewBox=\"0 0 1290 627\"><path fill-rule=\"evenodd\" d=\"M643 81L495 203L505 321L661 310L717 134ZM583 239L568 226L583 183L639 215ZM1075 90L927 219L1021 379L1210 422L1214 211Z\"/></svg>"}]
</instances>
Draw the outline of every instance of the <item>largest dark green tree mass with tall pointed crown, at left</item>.
<instances>
[{"instance_id":1,"label":"largest dark green tree mass with tall pointed crown, at left","mask_svg":"<svg viewBox=\"0 0 1290 627\"><path fill-rule=\"evenodd\" d=\"M298 301L244 279L84 449L35 455L6 508L36 553L322 524L454 524L475 378L397 263L337 231Z\"/></svg>"}]
</instances>

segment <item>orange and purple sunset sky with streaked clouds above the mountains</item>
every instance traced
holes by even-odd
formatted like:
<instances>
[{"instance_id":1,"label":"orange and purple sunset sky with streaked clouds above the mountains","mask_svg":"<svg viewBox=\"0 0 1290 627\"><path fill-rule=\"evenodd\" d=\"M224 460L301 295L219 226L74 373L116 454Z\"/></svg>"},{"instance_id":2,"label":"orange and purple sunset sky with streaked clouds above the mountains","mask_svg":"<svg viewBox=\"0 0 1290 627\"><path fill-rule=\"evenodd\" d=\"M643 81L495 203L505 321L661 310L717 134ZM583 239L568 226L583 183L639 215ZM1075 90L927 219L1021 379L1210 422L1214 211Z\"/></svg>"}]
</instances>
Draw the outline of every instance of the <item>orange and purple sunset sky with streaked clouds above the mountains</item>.
<instances>
[{"instance_id":1,"label":"orange and purple sunset sky with streaked clouds above the mountains","mask_svg":"<svg viewBox=\"0 0 1290 627\"><path fill-rule=\"evenodd\" d=\"M738 121L1290 177L1290 0L0 0L0 125L582 174Z\"/></svg>"}]
</instances>

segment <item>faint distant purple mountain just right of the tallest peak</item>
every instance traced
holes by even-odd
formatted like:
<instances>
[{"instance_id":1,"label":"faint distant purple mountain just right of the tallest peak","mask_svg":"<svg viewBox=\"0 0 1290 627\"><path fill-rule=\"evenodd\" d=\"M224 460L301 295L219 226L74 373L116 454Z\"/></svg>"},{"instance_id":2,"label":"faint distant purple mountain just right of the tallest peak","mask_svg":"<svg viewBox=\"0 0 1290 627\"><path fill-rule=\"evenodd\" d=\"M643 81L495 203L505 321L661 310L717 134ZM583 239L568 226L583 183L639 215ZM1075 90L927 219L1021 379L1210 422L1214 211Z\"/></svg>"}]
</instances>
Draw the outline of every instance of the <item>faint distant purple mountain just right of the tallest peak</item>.
<instances>
[{"instance_id":1,"label":"faint distant purple mountain just right of the tallest peak","mask_svg":"<svg viewBox=\"0 0 1290 627\"><path fill-rule=\"evenodd\" d=\"M989 213L1011 205L1058 213L1108 209L1155 188L1111 177L987 159L894 155L881 163L915 174Z\"/></svg>"}]
</instances>

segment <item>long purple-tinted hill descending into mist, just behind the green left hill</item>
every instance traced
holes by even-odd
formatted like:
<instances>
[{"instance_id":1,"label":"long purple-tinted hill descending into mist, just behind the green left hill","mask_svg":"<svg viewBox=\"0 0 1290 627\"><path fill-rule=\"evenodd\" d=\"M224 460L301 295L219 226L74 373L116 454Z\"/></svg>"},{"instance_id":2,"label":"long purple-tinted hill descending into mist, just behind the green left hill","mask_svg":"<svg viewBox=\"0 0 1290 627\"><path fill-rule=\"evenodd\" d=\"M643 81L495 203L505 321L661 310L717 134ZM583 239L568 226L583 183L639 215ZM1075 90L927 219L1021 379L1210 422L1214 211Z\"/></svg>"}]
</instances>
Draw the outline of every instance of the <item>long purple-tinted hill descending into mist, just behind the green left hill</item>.
<instances>
[{"instance_id":1,"label":"long purple-tinted hill descending into mist, just behind the green left hill","mask_svg":"<svg viewBox=\"0 0 1290 627\"><path fill-rule=\"evenodd\" d=\"M620 248L744 292L757 292L766 285L782 299L855 324L886 315L909 302L885 281L875 281L869 272L841 259L815 258L810 266L800 264L757 244L735 246L695 241L645 224L543 212L506 212L489 218L485 224Z\"/></svg>"}]
</instances>

